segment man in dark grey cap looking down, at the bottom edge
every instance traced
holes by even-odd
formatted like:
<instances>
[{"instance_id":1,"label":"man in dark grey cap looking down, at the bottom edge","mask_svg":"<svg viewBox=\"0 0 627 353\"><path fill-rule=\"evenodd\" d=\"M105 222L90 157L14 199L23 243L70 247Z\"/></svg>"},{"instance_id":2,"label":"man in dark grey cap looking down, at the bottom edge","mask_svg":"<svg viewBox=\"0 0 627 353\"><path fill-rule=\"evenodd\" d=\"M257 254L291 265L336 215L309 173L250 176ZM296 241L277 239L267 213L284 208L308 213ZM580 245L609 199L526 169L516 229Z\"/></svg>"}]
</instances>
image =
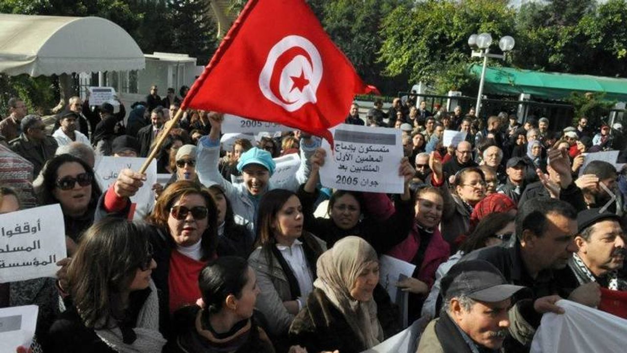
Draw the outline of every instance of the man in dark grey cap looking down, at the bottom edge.
<instances>
[{"instance_id":1,"label":"man in dark grey cap looking down, at the bottom edge","mask_svg":"<svg viewBox=\"0 0 627 353\"><path fill-rule=\"evenodd\" d=\"M418 352L502 352L510 332L533 330L519 315L509 314L512 296L525 287L508 284L487 261L455 264L442 278L441 288L440 318L424 330ZM538 310L561 312L554 305L556 299L542 298Z\"/></svg>"}]
</instances>

